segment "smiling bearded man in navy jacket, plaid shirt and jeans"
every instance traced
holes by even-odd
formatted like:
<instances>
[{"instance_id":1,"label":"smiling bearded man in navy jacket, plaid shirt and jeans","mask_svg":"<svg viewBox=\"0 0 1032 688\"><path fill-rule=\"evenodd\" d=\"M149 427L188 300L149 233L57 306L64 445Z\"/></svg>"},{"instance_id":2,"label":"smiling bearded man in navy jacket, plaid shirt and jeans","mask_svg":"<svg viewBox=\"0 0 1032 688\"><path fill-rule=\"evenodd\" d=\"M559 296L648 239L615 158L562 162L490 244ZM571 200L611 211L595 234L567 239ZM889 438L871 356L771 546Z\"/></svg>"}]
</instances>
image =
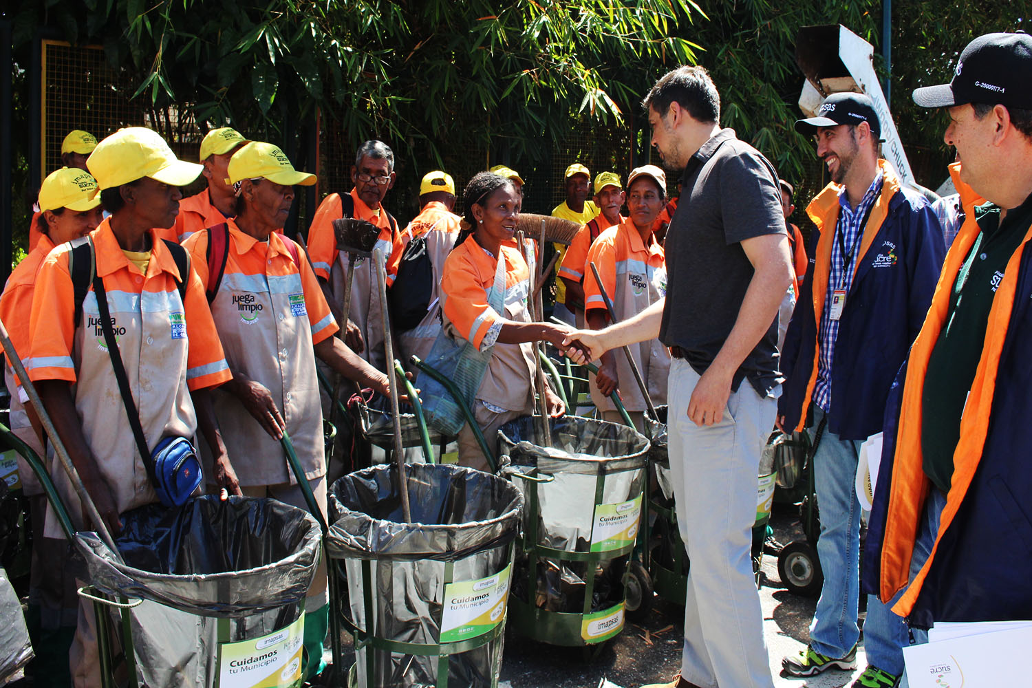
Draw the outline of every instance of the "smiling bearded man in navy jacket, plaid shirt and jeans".
<instances>
[{"instance_id":1,"label":"smiling bearded man in navy jacket, plaid shirt and jeans","mask_svg":"<svg viewBox=\"0 0 1032 688\"><path fill-rule=\"evenodd\" d=\"M928 201L878 159L881 128L870 98L833 94L796 129L814 134L832 177L807 207L816 251L785 335L778 403L783 431L823 428L813 469L825 584L806 651L782 661L785 674L812 676L857 665L860 446L882 429L889 390L925 320L945 250ZM903 674L906 625L876 597L867 609L868 666L853 688L888 688Z\"/></svg>"}]
</instances>

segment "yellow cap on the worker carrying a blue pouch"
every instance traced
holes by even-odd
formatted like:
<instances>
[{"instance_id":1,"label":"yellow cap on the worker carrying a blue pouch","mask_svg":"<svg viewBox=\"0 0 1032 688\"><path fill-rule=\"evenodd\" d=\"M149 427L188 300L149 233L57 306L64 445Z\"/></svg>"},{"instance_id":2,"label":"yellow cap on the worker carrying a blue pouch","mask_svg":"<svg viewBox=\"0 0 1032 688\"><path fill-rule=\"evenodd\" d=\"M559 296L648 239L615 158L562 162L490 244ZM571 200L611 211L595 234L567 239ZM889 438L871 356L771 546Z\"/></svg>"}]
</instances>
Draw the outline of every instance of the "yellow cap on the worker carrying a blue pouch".
<instances>
[{"instance_id":1,"label":"yellow cap on the worker carrying a blue pouch","mask_svg":"<svg viewBox=\"0 0 1032 688\"><path fill-rule=\"evenodd\" d=\"M165 139L147 127L119 129L97 143L86 166L101 191L144 176L173 187L185 187L204 170L202 165L176 158Z\"/></svg>"}]
</instances>

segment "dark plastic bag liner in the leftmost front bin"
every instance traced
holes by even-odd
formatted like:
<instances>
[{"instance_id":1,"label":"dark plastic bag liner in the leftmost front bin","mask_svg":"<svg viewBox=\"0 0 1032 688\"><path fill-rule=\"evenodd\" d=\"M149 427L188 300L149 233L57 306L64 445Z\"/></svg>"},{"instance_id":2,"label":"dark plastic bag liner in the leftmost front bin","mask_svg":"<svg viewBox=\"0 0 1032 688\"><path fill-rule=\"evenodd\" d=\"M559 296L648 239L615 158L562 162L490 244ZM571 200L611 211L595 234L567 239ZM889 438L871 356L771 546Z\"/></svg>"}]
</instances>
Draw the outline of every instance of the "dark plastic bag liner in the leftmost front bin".
<instances>
[{"instance_id":1,"label":"dark plastic bag liner in the leftmost front bin","mask_svg":"<svg viewBox=\"0 0 1032 688\"><path fill-rule=\"evenodd\" d=\"M236 642L300 616L321 551L319 524L308 512L275 499L206 496L121 518L115 544L125 564L96 533L76 533L75 544L91 585L144 600L131 609L143 685L214 685L219 618L229 620L228 640ZM117 613L111 619L118 624Z\"/></svg>"}]
</instances>

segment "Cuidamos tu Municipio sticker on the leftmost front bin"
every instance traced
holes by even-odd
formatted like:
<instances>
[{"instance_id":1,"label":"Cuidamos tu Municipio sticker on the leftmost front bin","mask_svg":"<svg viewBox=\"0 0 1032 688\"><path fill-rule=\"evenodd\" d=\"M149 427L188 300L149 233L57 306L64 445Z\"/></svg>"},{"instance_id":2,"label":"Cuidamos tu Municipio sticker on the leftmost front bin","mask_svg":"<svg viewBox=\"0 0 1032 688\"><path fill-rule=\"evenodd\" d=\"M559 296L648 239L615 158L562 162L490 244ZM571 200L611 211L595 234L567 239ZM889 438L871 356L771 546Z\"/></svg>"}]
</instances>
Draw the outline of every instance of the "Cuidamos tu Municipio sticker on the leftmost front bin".
<instances>
[{"instance_id":1,"label":"Cuidamos tu Municipio sticker on the leftmost front bin","mask_svg":"<svg viewBox=\"0 0 1032 688\"><path fill-rule=\"evenodd\" d=\"M259 638L219 645L219 688L299 688L304 614Z\"/></svg>"}]
</instances>

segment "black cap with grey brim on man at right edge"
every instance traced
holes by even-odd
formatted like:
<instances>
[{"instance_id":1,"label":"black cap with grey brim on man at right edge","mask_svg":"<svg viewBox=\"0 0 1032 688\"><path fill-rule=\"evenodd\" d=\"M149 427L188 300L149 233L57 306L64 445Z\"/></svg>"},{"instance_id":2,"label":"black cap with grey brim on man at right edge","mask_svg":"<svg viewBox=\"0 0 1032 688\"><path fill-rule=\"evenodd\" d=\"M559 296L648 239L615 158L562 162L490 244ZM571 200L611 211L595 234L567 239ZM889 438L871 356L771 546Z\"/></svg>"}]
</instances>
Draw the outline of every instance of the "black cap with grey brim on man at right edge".
<instances>
[{"instance_id":1,"label":"black cap with grey brim on man at right edge","mask_svg":"<svg viewBox=\"0 0 1032 688\"><path fill-rule=\"evenodd\" d=\"M966 103L1032 109L1032 36L1027 33L987 33L964 48L954 80L914 89L913 102L922 107L950 107Z\"/></svg>"}]
</instances>

